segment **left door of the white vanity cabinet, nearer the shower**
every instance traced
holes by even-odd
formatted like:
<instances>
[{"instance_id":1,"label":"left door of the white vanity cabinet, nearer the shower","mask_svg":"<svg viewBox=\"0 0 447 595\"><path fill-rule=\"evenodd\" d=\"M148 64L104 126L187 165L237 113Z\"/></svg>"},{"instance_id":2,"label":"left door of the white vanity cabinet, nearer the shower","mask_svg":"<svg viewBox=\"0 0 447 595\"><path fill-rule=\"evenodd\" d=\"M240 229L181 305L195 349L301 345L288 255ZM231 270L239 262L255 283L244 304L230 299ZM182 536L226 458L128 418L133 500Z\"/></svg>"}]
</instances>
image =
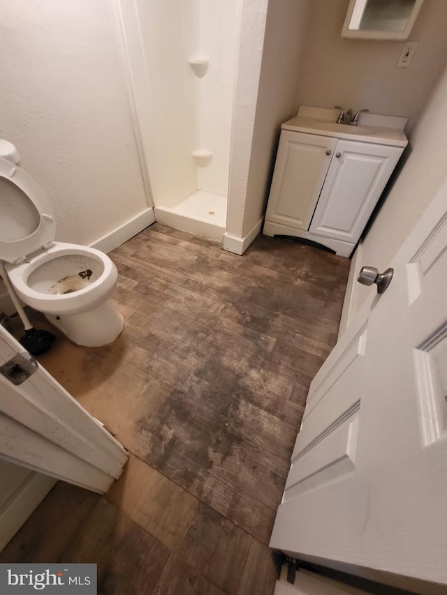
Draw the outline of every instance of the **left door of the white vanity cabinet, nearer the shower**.
<instances>
[{"instance_id":1,"label":"left door of the white vanity cabinet, nearer the shower","mask_svg":"<svg viewBox=\"0 0 447 595\"><path fill-rule=\"evenodd\" d=\"M265 220L308 229L337 139L281 131Z\"/></svg>"}]
</instances>

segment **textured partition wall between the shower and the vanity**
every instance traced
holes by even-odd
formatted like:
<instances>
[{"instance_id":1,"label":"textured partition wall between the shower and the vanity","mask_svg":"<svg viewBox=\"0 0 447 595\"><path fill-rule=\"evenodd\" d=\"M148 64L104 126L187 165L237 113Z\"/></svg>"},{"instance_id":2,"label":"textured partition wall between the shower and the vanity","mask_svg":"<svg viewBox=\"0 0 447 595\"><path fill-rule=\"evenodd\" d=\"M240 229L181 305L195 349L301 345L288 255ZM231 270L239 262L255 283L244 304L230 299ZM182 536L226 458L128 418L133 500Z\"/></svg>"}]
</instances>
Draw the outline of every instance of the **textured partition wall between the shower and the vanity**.
<instances>
[{"instance_id":1,"label":"textured partition wall between the shower and the vanity","mask_svg":"<svg viewBox=\"0 0 447 595\"><path fill-rule=\"evenodd\" d=\"M308 11L309 0L244 2L233 116L229 236L246 236L263 216L279 128L298 107Z\"/></svg>"}]
</instances>

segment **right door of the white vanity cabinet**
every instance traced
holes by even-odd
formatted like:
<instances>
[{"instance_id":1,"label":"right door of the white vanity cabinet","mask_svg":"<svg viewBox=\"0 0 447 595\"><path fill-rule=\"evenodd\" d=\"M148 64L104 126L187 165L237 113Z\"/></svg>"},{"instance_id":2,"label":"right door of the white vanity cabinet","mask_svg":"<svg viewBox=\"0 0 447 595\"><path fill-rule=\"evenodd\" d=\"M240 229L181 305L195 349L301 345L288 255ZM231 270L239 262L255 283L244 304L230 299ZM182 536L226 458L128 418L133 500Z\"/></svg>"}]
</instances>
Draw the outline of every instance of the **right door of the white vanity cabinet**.
<instances>
[{"instance_id":1,"label":"right door of the white vanity cabinet","mask_svg":"<svg viewBox=\"0 0 447 595\"><path fill-rule=\"evenodd\" d=\"M402 151L339 140L309 232L356 243Z\"/></svg>"}]
</instances>

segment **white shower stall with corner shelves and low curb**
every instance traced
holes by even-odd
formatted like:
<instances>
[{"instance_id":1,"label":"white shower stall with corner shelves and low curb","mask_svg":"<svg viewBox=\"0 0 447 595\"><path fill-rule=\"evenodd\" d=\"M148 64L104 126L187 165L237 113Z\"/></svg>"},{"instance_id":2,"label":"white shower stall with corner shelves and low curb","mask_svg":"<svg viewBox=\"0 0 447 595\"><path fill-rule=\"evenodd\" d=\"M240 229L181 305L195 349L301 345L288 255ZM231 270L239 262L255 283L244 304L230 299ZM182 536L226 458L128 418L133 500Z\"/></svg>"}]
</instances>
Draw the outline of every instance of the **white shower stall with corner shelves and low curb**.
<instances>
[{"instance_id":1,"label":"white shower stall with corner shelves and low curb","mask_svg":"<svg viewBox=\"0 0 447 595\"><path fill-rule=\"evenodd\" d=\"M217 241L226 232L238 3L121 3L155 218Z\"/></svg>"}]
</instances>

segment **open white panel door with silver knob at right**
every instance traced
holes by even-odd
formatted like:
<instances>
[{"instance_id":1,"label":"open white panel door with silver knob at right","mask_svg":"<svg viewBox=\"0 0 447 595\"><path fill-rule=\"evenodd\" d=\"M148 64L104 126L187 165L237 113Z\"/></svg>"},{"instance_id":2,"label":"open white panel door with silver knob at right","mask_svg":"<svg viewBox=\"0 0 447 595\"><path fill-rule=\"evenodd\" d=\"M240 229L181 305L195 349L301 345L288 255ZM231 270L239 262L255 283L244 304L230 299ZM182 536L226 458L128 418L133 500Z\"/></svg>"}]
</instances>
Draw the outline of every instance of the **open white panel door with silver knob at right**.
<instances>
[{"instance_id":1,"label":"open white panel door with silver knob at right","mask_svg":"<svg viewBox=\"0 0 447 595\"><path fill-rule=\"evenodd\" d=\"M447 584L446 247L447 185L311 384L272 548Z\"/></svg>"}]
</instances>

